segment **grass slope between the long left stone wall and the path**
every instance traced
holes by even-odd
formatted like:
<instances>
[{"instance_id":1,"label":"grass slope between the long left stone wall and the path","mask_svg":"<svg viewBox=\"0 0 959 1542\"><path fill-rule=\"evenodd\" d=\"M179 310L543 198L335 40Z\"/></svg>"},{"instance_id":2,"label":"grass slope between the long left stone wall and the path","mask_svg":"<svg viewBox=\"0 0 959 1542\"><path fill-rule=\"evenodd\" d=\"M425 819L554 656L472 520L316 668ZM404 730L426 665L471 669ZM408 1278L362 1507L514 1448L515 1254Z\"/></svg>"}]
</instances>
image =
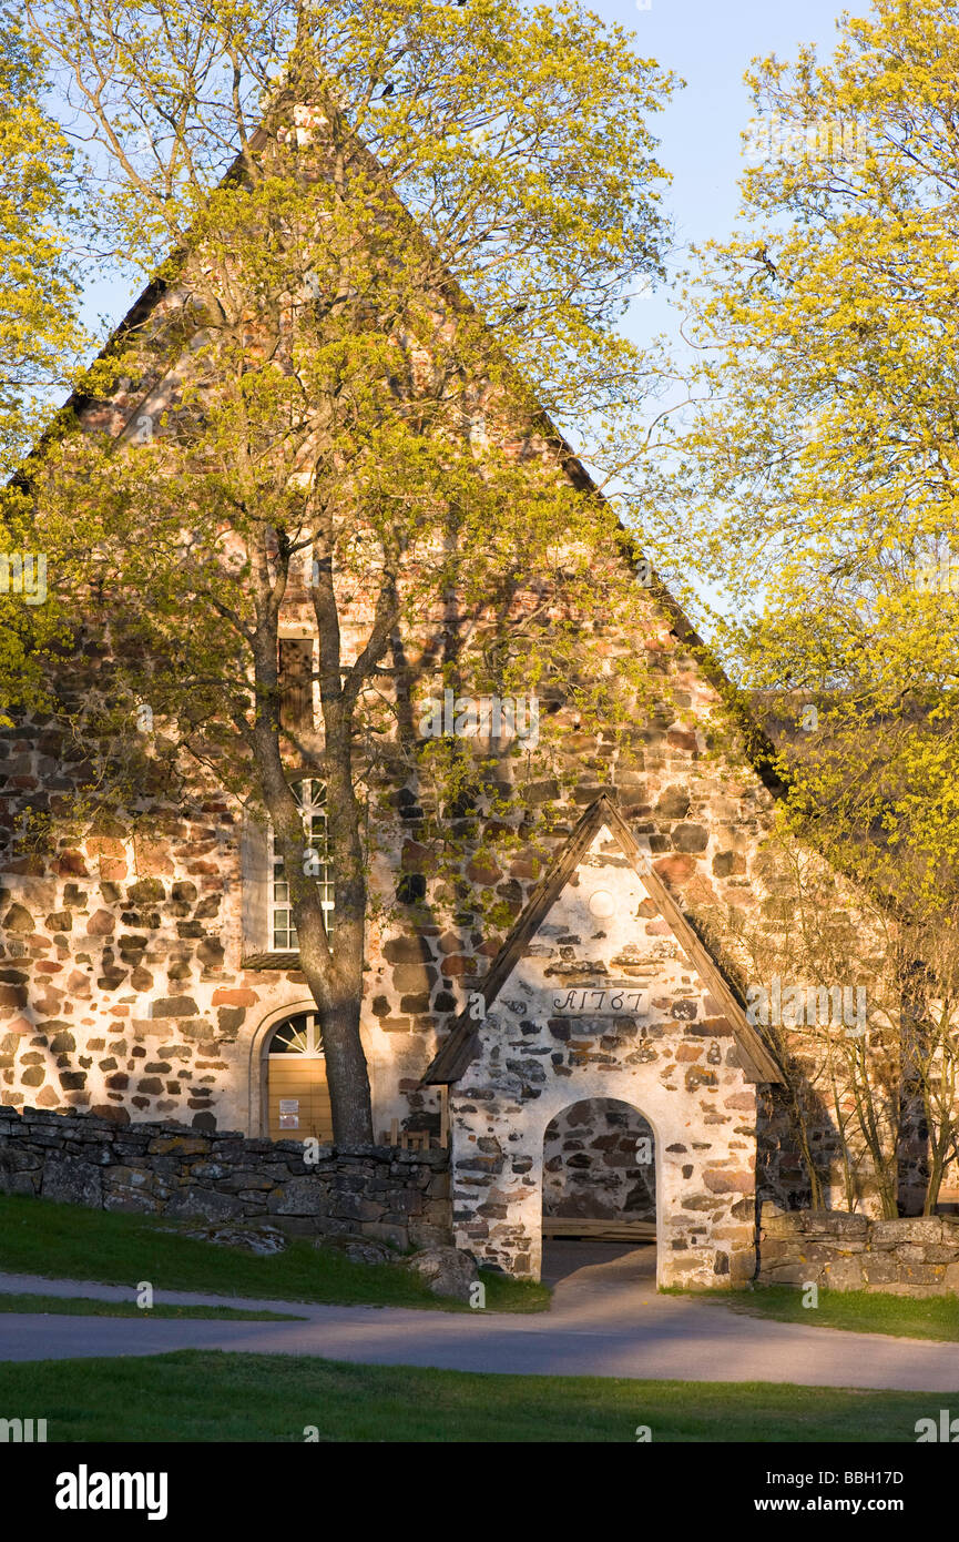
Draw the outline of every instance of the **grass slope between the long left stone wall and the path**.
<instances>
[{"instance_id":1,"label":"grass slope between the long left stone wall and the path","mask_svg":"<svg viewBox=\"0 0 959 1542\"><path fill-rule=\"evenodd\" d=\"M350 1263L335 1249L296 1238L282 1254L257 1258L234 1247L160 1231L170 1221L148 1215L85 1210L15 1194L0 1194L0 1269L48 1280L97 1280L154 1291L208 1291L278 1301L339 1306L424 1306L464 1311L459 1301L430 1295L426 1284L395 1264ZM185 1226L196 1224L183 1223ZM537 1312L549 1288L481 1271L487 1311Z\"/></svg>"}]
</instances>

